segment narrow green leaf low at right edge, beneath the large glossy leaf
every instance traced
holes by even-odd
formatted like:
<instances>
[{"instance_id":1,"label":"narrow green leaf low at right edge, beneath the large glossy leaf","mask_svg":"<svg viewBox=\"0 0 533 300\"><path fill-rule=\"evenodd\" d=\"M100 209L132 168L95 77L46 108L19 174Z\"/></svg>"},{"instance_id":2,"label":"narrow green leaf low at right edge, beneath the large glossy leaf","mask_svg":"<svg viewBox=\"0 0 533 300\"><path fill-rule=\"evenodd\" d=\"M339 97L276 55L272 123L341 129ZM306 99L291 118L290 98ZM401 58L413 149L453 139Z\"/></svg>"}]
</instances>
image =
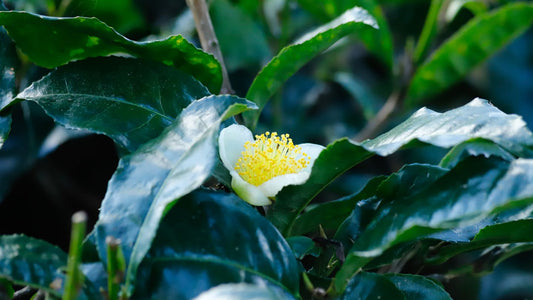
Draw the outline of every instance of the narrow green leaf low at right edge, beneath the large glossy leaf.
<instances>
[{"instance_id":1,"label":"narrow green leaf low at right edge, beneath the large glossy leaf","mask_svg":"<svg viewBox=\"0 0 533 300\"><path fill-rule=\"evenodd\" d=\"M470 242L452 243L440 248L437 253L427 257L427 262L430 264L441 264L460 253L493 245L532 243L532 230L533 219L490 225L481 229Z\"/></svg>"}]
</instances>

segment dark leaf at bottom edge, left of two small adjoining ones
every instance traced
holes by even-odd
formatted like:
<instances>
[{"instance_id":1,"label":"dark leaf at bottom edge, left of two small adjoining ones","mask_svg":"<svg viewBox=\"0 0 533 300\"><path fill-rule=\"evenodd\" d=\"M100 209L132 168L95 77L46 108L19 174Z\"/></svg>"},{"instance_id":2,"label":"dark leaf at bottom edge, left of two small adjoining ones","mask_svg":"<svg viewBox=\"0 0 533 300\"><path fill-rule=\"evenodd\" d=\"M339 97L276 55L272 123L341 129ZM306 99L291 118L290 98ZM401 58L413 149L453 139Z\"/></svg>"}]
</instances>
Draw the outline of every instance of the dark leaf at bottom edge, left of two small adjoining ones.
<instances>
[{"instance_id":1,"label":"dark leaf at bottom edge, left of two small adjoining ones","mask_svg":"<svg viewBox=\"0 0 533 300\"><path fill-rule=\"evenodd\" d=\"M341 300L361 299L407 299L403 293L385 276L375 273L361 272L354 276Z\"/></svg>"}]
</instances>

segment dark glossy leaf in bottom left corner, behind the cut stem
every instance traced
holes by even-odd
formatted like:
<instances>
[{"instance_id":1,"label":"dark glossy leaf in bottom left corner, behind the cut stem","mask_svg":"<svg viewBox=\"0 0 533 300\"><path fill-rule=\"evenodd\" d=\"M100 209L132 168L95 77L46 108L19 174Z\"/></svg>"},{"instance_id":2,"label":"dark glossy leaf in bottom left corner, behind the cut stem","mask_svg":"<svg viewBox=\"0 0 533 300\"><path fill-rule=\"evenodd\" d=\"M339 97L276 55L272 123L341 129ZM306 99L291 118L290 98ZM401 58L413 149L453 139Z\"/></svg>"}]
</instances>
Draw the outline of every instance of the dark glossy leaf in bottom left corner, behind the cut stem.
<instances>
[{"instance_id":1,"label":"dark glossy leaf in bottom left corner, behind the cut stem","mask_svg":"<svg viewBox=\"0 0 533 300\"><path fill-rule=\"evenodd\" d=\"M0 278L60 297L66 265L67 254L45 241L24 235L0 236ZM85 282L80 299L101 299L101 296Z\"/></svg>"}]
</instances>

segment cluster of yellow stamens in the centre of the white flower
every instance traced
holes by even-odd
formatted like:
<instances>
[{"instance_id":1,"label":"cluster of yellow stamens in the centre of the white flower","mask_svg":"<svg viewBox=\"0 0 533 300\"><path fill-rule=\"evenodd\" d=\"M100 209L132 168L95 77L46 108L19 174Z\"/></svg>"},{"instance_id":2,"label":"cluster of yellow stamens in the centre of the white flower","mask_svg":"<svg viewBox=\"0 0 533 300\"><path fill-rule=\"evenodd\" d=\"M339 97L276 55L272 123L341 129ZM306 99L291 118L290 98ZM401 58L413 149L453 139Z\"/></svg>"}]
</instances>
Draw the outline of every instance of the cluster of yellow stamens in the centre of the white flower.
<instances>
[{"instance_id":1,"label":"cluster of yellow stamens in the centre of the white flower","mask_svg":"<svg viewBox=\"0 0 533 300\"><path fill-rule=\"evenodd\" d=\"M288 134L281 138L276 132L255 136L254 142L246 142L235 170L247 182L259 186L276 176L298 173L310 161L302 148L292 143Z\"/></svg>"}]
</instances>

